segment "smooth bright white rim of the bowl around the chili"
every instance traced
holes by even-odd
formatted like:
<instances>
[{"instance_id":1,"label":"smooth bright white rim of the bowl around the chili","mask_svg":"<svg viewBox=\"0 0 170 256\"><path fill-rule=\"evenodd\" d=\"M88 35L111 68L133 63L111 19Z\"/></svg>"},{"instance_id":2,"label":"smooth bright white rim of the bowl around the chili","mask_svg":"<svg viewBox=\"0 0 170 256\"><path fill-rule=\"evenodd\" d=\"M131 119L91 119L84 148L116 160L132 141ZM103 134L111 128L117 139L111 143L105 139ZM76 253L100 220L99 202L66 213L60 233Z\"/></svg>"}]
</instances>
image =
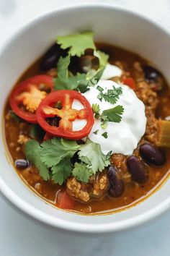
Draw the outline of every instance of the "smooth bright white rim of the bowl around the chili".
<instances>
[{"instance_id":1,"label":"smooth bright white rim of the bowl around the chili","mask_svg":"<svg viewBox=\"0 0 170 256\"><path fill-rule=\"evenodd\" d=\"M1 46L0 57L1 57L1 54L6 50L6 48L8 48L8 46L11 44L12 40L19 37L22 31L31 27L34 23L40 20L45 20L50 15L58 14L61 12L67 12L69 10L84 9L84 8L114 9L114 10L117 10L118 12L119 11L125 12L137 18L140 18L141 20L146 20L146 22L151 23L151 25L158 28L159 30L162 30L164 33L166 33L166 35L170 36L169 30L166 30L166 28L162 27L160 24L158 24L158 22L155 22L151 20L151 18L148 18L143 14L139 14L138 12L134 12L125 7L117 7L114 4L104 4L104 3L71 4L71 5L59 7L57 9L53 9L43 14L40 14L37 17L31 19L29 22L26 22L24 25L19 27L19 29L14 30L14 33L12 33L12 35L10 35ZM161 213L164 213L164 211L170 208L170 197L169 197L163 202L161 202L161 204L156 205L156 207L152 208L151 210L148 210L146 213L142 213L138 216L128 218L128 220L125 220L125 221L117 221L116 223L112 222L112 223L101 223L101 224L76 223L76 221L61 220L61 218L58 218L57 216L56 217L50 216L49 218L48 213L43 213L41 210L38 210L37 208L33 207L29 203L22 200L18 195L16 195L12 191L12 189L10 189L6 185L4 180L1 179L1 176L0 176L0 192L2 195L4 195L4 197L6 197L6 199L9 202L12 203L12 205L19 208L19 210L21 210L22 213L25 213L28 216L31 216L37 221L48 224L49 226L53 226L55 228L65 229L68 231L76 231L81 233L108 233L112 231L121 231L124 229L132 228L134 226L140 225L141 223L144 223L153 218L156 218L156 216L159 216ZM88 218L88 216L86 216L86 218Z\"/></svg>"}]
</instances>

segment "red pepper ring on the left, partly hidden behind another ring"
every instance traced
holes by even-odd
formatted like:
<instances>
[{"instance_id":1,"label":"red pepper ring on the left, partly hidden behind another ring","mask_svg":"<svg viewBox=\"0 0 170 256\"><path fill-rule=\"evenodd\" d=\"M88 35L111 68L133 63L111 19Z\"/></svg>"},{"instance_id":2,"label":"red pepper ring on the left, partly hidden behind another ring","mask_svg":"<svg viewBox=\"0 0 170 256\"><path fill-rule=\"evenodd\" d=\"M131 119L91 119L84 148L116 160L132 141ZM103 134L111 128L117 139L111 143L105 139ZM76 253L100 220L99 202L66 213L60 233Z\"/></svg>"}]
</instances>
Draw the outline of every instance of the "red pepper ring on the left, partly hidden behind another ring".
<instances>
[{"instance_id":1,"label":"red pepper ring on the left, partly hidden behind another ring","mask_svg":"<svg viewBox=\"0 0 170 256\"><path fill-rule=\"evenodd\" d=\"M51 89L51 91L53 91L53 78L46 74L40 74L20 82L14 88L14 90L12 90L12 93L9 97L9 102L14 113L22 119L29 121L33 124L37 123L36 114L32 113L31 111L25 111L23 108L20 108L20 105L22 104L23 99L27 98L27 95L30 93L31 90L35 91L35 93L38 93L38 90L36 90L36 88L39 88L40 84L45 84L48 88ZM31 98L31 100L34 99Z\"/></svg>"}]
</instances>

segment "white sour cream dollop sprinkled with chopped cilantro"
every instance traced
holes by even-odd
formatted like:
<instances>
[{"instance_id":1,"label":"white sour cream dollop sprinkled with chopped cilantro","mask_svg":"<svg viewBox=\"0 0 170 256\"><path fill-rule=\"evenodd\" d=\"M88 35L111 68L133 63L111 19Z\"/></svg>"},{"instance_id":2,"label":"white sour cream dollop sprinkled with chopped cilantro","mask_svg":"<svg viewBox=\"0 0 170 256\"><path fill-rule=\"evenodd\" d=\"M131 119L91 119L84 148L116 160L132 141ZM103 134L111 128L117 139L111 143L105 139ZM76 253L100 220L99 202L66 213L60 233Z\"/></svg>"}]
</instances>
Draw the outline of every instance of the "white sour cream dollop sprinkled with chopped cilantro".
<instances>
[{"instance_id":1,"label":"white sour cream dollop sprinkled with chopped cilantro","mask_svg":"<svg viewBox=\"0 0 170 256\"><path fill-rule=\"evenodd\" d=\"M97 96L99 90L97 85L104 89L103 93L108 89L112 89L112 85L115 88L122 86L122 94L119 96L117 103L114 105L104 101L99 101ZM89 91L84 93L84 96L92 104L99 104L100 114L102 111L109 108L114 108L117 105L121 105L124 108L122 114L122 120L120 123L108 122L107 128L102 129L101 122L99 120L94 121L94 126L89 134L89 139L93 142L99 143L102 148L102 152L107 154L110 150L112 153L122 153L123 155L130 155L138 145L141 137L143 137L146 131L146 114L145 106L142 101L138 99L134 91L127 85L118 85L116 82L110 80L100 80L95 87L91 87ZM79 101L73 102L73 108L81 109L82 105ZM77 120L73 122L73 129L79 130L84 127L86 120ZM94 132L97 132L97 135ZM107 138L102 134L107 132Z\"/></svg>"}]
</instances>

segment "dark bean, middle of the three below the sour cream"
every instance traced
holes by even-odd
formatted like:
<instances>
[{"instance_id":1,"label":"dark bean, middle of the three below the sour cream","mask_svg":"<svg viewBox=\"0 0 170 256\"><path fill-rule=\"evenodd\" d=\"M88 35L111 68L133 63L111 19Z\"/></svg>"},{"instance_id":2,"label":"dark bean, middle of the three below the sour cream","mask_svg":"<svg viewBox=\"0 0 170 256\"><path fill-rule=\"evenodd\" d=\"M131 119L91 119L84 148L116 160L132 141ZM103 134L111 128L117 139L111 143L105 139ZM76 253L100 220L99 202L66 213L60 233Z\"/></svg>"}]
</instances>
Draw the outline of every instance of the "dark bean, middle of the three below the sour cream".
<instances>
[{"instance_id":1,"label":"dark bean, middle of the three below the sour cream","mask_svg":"<svg viewBox=\"0 0 170 256\"><path fill-rule=\"evenodd\" d=\"M127 166L135 182L143 183L147 181L148 170L137 156L130 155L127 159Z\"/></svg>"}]
</instances>

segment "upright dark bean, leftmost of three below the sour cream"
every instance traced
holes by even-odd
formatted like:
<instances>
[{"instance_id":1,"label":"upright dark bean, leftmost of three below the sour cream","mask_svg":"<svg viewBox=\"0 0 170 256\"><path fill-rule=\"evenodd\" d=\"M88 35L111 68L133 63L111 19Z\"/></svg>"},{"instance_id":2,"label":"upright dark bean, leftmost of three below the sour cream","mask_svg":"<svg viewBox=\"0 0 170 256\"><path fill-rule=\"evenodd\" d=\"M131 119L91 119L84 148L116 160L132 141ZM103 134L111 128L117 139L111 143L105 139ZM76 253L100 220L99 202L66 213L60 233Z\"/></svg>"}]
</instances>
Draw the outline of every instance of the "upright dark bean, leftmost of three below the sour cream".
<instances>
[{"instance_id":1,"label":"upright dark bean, leftmost of three below the sour cream","mask_svg":"<svg viewBox=\"0 0 170 256\"><path fill-rule=\"evenodd\" d=\"M112 197L120 197L124 192L124 184L117 168L109 166L107 177L109 179L109 195Z\"/></svg>"}]
</instances>

